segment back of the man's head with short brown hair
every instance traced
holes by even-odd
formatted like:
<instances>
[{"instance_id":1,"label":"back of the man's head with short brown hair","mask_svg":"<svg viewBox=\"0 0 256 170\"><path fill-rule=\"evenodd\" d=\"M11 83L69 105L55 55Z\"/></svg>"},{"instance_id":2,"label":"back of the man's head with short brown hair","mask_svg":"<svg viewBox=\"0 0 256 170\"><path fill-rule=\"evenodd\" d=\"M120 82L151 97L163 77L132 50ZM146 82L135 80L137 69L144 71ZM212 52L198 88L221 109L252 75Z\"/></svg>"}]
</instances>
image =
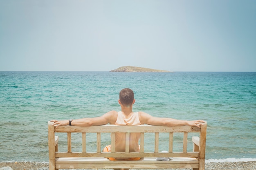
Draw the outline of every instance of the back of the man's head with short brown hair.
<instances>
[{"instance_id":1,"label":"back of the man's head with short brown hair","mask_svg":"<svg viewBox=\"0 0 256 170\"><path fill-rule=\"evenodd\" d=\"M132 105L134 93L130 88L124 88L119 93L119 99L122 105Z\"/></svg>"}]
</instances>

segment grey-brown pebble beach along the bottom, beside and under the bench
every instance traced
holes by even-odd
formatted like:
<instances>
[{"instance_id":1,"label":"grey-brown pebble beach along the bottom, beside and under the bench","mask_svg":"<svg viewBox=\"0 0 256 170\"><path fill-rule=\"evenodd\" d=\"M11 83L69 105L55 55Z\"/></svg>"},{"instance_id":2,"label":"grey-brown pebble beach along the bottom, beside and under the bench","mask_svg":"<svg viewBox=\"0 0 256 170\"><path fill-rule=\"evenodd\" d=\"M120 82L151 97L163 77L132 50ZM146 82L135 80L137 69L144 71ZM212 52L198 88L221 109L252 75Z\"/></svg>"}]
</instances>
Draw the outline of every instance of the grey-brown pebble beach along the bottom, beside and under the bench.
<instances>
[{"instance_id":1,"label":"grey-brown pebble beach along the bottom, beside and under the bench","mask_svg":"<svg viewBox=\"0 0 256 170\"><path fill-rule=\"evenodd\" d=\"M49 170L49 163L45 163L45 162L43 162L43 163L38 163L38 162L0 162L0 170L3 170L4 167L8 167L8 168L5 168L6 170ZM72 169L72 170L76 170L76 169ZM97 169L92 169L92 170L97 170ZM105 170L105 169L98 169L98 170ZM133 170L133 169L131 169L131 170ZM134 170L136 170L136 169L134 169ZM185 170L185 169L170 169L170 170ZM192 169L186 169L186 170L192 170ZM207 162L207 163L205 163L205 170L256 170L256 161L221 162L221 163L220 162Z\"/></svg>"}]
</instances>

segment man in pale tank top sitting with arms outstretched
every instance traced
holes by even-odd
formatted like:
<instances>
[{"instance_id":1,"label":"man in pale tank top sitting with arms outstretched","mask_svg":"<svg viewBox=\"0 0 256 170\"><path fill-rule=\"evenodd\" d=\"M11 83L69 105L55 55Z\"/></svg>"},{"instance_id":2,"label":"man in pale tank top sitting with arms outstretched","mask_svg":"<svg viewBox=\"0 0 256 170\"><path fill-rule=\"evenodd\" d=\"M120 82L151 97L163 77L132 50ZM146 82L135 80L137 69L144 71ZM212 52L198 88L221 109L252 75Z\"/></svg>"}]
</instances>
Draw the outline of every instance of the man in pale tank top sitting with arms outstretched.
<instances>
[{"instance_id":1,"label":"man in pale tank top sitting with arms outstretched","mask_svg":"<svg viewBox=\"0 0 256 170\"><path fill-rule=\"evenodd\" d=\"M161 125L161 126L197 126L200 128L200 125L204 123L203 120L177 120L171 118L160 118L153 117L144 112L133 112L132 105L135 103L134 93L129 88L124 88L119 93L118 100L121 111L117 112L112 110L108 113L100 117L93 118L83 118L76 120L52 120L54 122L53 125L65 126L65 125L74 125L74 126L96 126L96 125L104 125L104 124L115 124L115 125L128 125L135 126L141 124L148 125ZM139 152L139 138L140 133L130 133L130 152ZM115 150L116 152L124 152L125 151L125 134L124 133L116 133L115 137ZM104 152L111 152L111 145L106 146L103 149ZM108 158L110 160L139 160L140 158Z\"/></svg>"}]
</instances>

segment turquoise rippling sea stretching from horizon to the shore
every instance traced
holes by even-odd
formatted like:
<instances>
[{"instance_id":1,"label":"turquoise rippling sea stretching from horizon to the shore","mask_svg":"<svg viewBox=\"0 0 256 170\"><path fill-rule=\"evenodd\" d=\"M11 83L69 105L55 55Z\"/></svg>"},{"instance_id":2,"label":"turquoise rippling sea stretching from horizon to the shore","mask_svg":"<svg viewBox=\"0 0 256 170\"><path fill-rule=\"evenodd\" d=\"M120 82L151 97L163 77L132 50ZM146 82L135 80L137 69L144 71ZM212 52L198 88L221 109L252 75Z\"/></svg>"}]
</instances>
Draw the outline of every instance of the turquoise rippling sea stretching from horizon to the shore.
<instances>
[{"instance_id":1,"label":"turquoise rippling sea stretching from horizon to the shore","mask_svg":"<svg viewBox=\"0 0 256 170\"><path fill-rule=\"evenodd\" d=\"M135 112L207 121L206 161L256 161L256 72L0 72L0 161L48 162L49 120L119 111L123 88L134 91ZM88 135L90 151L96 138ZM168 134L161 135L159 150L166 150ZM66 151L67 137L59 136ZM174 138L178 152L182 135ZM110 135L101 140L103 148ZM146 142L151 151L152 137ZM72 136L72 147L81 151L80 134Z\"/></svg>"}]
</instances>

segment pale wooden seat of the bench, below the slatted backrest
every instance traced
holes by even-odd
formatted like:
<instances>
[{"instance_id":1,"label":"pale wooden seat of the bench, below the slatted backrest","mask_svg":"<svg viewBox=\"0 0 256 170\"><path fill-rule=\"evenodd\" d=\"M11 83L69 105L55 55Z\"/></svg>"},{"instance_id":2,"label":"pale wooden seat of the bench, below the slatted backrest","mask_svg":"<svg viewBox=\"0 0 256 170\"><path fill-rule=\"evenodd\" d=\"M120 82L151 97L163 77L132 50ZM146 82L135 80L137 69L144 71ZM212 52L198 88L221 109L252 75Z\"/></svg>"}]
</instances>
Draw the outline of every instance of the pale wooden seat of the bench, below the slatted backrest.
<instances>
[{"instance_id":1,"label":"pale wooden seat of the bench, below the slatted backrest","mask_svg":"<svg viewBox=\"0 0 256 170\"><path fill-rule=\"evenodd\" d=\"M157 161L156 158L144 158L138 161L110 161L107 158L56 158L56 168L198 168L195 158L173 158L171 161Z\"/></svg>"}]
</instances>

